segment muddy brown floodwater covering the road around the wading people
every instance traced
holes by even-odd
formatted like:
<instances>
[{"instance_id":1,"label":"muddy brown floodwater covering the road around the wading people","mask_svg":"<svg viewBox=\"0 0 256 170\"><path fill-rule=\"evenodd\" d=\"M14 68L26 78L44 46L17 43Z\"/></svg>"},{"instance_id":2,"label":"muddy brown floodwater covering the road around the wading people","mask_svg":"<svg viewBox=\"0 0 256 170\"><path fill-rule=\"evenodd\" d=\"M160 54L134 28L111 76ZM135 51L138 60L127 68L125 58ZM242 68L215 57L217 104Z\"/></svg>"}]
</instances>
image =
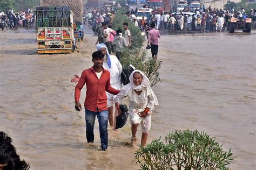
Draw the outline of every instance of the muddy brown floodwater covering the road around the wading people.
<instances>
[{"instance_id":1,"label":"muddy brown floodwater covering the road around the wading people","mask_svg":"<svg viewBox=\"0 0 256 170\"><path fill-rule=\"evenodd\" d=\"M139 168L127 145L129 124L109 128L109 151L100 151L97 121L95 143L86 143L84 110L79 120L70 79L92 66L95 42L86 31L75 53L39 55L35 30L1 30L0 131L31 169ZM161 83L153 90L160 105L148 142L178 129L206 131L232 148L232 169L255 169L256 32L163 34L159 44Z\"/></svg>"}]
</instances>

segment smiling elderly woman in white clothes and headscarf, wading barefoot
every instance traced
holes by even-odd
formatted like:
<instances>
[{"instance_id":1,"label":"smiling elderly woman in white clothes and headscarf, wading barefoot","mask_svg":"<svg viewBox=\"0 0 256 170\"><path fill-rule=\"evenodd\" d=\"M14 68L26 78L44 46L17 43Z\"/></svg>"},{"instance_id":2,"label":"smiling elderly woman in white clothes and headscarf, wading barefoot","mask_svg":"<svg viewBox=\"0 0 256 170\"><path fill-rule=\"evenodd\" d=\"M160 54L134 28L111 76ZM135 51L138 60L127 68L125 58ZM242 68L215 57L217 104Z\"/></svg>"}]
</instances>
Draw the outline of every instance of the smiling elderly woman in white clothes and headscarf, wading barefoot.
<instances>
[{"instance_id":1,"label":"smiling elderly woman in white clothes and headscarf, wading barefoot","mask_svg":"<svg viewBox=\"0 0 256 170\"><path fill-rule=\"evenodd\" d=\"M116 97L116 109L125 96L129 97L129 116L132 124L131 146L137 145L136 133L139 123L142 124L141 145L145 146L147 136L151 128L151 114L154 105L158 105L157 97L151 89L150 81L140 70L134 70L130 77L130 83L122 87Z\"/></svg>"}]
</instances>

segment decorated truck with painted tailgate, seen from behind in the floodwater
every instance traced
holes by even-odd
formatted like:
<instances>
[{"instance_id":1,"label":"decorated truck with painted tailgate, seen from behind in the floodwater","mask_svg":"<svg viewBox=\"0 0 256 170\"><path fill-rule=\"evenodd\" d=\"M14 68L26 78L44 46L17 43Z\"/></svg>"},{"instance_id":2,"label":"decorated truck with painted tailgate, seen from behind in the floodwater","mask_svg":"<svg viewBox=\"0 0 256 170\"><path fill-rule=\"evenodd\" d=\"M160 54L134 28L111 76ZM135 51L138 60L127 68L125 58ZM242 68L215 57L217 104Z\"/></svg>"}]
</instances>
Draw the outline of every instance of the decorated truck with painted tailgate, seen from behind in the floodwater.
<instances>
[{"instance_id":1,"label":"decorated truck with painted tailgate, seen from behind in the floodwater","mask_svg":"<svg viewBox=\"0 0 256 170\"><path fill-rule=\"evenodd\" d=\"M73 13L68 6L36 7L37 53L75 50Z\"/></svg>"}]
</instances>

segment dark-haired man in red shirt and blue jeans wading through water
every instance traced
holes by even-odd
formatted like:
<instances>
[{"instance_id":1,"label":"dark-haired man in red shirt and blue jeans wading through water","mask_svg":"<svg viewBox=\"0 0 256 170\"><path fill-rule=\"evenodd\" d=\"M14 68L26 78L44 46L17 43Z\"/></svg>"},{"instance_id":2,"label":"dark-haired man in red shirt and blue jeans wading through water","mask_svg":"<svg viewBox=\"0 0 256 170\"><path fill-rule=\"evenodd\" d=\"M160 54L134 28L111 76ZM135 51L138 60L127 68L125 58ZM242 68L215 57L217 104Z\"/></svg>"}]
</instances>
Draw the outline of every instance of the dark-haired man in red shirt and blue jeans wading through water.
<instances>
[{"instance_id":1,"label":"dark-haired man in red shirt and blue jeans wading through water","mask_svg":"<svg viewBox=\"0 0 256 170\"><path fill-rule=\"evenodd\" d=\"M93 66L83 71L75 88L75 108L77 111L82 110L82 105L79 102L80 91L86 84L84 107L87 142L93 143L94 141L93 129L97 116L102 150L105 151L108 143L107 119L109 117L106 91L113 95L117 95L120 91L111 87L110 72L102 67L103 61L102 53L97 51L92 54Z\"/></svg>"}]
</instances>

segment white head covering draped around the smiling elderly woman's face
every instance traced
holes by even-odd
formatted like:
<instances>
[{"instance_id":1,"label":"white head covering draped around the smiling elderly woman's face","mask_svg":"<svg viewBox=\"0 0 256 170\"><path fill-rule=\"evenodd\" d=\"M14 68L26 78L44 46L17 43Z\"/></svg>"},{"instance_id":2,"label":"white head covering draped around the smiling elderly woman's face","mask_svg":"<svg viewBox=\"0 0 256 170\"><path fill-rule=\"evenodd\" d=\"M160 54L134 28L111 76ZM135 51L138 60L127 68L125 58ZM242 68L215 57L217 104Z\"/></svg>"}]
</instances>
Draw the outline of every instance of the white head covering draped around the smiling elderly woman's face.
<instances>
[{"instance_id":1,"label":"white head covering draped around the smiling elderly woman's face","mask_svg":"<svg viewBox=\"0 0 256 170\"><path fill-rule=\"evenodd\" d=\"M136 86L133 82L133 74L139 72L140 74L142 74L143 79L142 79L142 83L139 86ZM150 80L147 78L147 76L140 70L134 70L130 77L129 77L130 83L126 84L122 89L125 90L125 94L124 96L128 96L131 94L132 90L136 90L136 91L140 91L142 90L143 87L145 88L149 88L150 89L150 93L154 98L154 105L159 105L158 100L157 100L157 96L154 94L153 90L151 89L151 83Z\"/></svg>"}]
</instances>

